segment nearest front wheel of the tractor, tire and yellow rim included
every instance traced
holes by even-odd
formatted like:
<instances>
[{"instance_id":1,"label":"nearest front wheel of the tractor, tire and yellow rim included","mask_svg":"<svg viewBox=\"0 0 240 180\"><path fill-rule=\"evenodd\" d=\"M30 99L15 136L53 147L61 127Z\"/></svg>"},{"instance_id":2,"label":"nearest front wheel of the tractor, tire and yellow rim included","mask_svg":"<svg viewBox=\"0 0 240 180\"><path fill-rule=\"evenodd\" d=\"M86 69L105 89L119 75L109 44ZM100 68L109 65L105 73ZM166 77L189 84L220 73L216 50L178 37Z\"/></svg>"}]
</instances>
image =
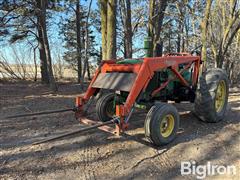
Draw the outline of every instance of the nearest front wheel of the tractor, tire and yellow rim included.
<instances>
[{"instance_id":1,"label":"nearest front wheel of the tractor, tire and yellow rim included","mask_svg":"<svg viewBox=\"0 0 240 180\"><path fill-rule=\"evenodd\" d=\"M167 103L157 103L149 110L144 123L146 138L157 146L175 139L179 128L177 109Z\"/></svg>"}]
</instances>

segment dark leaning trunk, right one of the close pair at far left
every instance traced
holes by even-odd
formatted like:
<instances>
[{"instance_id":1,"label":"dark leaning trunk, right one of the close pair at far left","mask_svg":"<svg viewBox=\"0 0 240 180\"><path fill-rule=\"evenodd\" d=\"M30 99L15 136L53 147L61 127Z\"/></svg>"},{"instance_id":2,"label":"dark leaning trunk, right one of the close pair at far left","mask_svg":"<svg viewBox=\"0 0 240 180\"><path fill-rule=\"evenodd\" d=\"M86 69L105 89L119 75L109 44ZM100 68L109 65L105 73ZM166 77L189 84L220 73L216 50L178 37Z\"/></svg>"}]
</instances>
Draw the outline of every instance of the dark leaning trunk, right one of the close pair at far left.
<instances>
[{"instance_id":1,"label":"dark leaning trunk, right one of the close pair at far left","mask_svg":"<svg viewBox=\"0 0 240 180\"><path fill-rule=\"evenodd\" d=\"M40 10L38 13L38 28L40 29L39 37L42 37L42 45L45 52L45 62L47 65L47 76L49 79L49 85L51 90L57 91L57 86L55 83L55 79L53 76L52 71L52 60L51 60L51 54L50 54L50 48L49 48L49 42L48 42L48 36L47 36L47 28L46 28L46 4L47 2L45 0L38 0L37 6Z\"/></svg>"}]
</instances>

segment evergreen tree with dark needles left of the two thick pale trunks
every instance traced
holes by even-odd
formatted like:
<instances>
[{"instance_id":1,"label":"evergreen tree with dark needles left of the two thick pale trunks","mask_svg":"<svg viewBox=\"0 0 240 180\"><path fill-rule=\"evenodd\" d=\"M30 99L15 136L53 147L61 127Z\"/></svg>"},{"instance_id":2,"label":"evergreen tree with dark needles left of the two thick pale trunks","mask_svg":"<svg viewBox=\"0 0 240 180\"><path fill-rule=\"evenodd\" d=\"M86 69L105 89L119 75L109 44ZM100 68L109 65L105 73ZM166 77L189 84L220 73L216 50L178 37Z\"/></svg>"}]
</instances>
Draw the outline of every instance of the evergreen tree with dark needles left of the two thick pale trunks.
<instances>
[{"instance_id":1,"label":"evergreen tree with dark needles left of the two thick pale trunks","mask_svg":"<svg viewBox=\"0 0 240 180\"><path fill-rule=\"evenodd\" d=\"M92 13L94 15L95 12L90 11L91 2L88 8L84 5L76 5L76 2L74 5L69 3L67 6L66 14L69 17L63 19L60 24L60 35L64 37L64 48L66 49L63 58L78 73L78 82L82 83L86 72L90 79L89 58L99 56L99 52L96 50L95 35L91 29L94 24L92 21L94 17L91 15Z\"/></svg>"}]
</instances>

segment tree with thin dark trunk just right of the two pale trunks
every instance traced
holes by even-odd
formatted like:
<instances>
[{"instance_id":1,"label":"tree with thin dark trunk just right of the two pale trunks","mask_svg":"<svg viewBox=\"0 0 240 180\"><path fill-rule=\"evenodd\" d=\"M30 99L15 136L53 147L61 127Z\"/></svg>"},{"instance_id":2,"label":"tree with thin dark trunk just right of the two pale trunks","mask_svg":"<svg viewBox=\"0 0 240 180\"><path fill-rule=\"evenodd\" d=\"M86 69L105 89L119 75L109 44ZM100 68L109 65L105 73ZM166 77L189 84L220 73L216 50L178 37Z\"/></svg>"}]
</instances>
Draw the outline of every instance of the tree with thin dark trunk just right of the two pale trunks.
<instances>
[{"instance_id":1,"label":"tree with thin dark trunk just right of the two pale trunks","mask_svg":"<svg viewBox=\"0 0 240 180\"><path fill-rule=\"evenodd\" d=\"M144 54L142 38L147 36L148 21L146 3L148 3L146 0L119 1L116 25L118 56L131 58Z\"/></svg>"}]
</instances>

